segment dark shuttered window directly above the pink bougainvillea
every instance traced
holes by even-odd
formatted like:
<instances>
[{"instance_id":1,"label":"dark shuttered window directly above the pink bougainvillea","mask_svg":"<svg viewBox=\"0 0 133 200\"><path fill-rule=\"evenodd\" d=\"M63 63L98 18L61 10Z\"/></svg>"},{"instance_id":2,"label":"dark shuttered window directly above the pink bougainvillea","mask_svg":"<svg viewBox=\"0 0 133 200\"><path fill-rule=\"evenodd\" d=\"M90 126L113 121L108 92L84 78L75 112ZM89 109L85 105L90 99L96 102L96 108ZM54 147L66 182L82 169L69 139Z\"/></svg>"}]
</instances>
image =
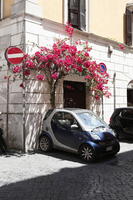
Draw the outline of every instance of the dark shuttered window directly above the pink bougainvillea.
<instances>
[{"instance_id":1,"label":"dark shuttered window directly above the pink bougainvillea","mask_svg":"<svg viewBox=\"0 0 133 200\"><path fill-rule=\"evenodd\" d=\"M86 0L68 0L68 21L74 28L86 29Z\"/></svg>"}]
</instances>

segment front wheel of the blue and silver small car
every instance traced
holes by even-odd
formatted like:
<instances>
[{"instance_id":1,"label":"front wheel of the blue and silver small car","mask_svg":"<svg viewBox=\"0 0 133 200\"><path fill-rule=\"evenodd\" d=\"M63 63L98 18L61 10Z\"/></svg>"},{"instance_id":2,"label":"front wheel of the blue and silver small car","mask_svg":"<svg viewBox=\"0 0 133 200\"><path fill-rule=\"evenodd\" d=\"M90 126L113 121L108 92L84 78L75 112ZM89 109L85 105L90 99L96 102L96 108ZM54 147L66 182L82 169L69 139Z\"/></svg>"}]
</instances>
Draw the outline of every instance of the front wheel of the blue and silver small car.
<instances>
[{"instance_id":1,"label":"front wheel of the blue and silver small car","mask_svg":"<svg viewBox=\"0 0 133 200\"><path fill-rule=\"evenodd\" d=\"M86 160L88 162L92 162L96 159L96 155L93 148L88 144L83 144L80 147L79 154L83 160Z\"/></svg>"}]
</instances>

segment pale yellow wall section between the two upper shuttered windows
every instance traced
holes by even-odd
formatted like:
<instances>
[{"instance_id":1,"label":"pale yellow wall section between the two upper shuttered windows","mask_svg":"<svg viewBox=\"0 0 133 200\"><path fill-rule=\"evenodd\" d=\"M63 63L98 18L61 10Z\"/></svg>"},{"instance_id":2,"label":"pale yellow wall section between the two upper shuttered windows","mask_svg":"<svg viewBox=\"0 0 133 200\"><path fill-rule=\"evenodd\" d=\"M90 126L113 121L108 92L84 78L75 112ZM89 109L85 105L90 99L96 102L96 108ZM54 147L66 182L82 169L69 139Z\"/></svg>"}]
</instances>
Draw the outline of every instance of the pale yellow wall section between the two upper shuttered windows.
<instances>
[{"instance_id":1,"label":"pale yellow wall section between the two upper shuttered windows","mask_svg":"<svg viewBox=\"0 0 133 200\"><path fill-rule=\"evenodd\" d=\"M124 13L129 0L90 0L89 31L123 42Z\"/></svg>"}]
</instances>

